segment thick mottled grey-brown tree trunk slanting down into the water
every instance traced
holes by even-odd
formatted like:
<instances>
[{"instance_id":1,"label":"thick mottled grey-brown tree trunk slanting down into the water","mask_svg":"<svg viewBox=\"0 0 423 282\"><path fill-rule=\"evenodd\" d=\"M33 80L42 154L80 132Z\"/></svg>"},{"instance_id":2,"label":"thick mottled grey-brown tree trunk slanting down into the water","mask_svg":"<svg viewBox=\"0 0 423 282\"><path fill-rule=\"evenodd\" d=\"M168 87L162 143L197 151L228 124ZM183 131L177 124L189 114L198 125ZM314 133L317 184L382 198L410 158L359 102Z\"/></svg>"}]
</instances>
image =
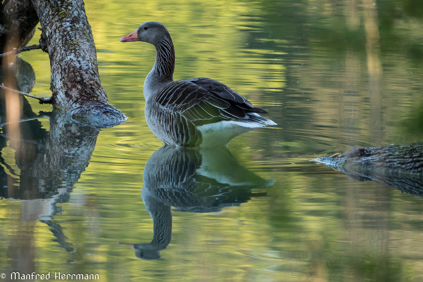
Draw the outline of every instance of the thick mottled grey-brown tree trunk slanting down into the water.
<instances>
[{"instance_id":1,"label":"thick mottled grey-brown tree trunk slanting down into the water","mask_svg":"<svg viewBox=\"0 0 423 282\"><path fill-rule=\"evenodd\" d=\"M112 107L101 86L96 47L82 0L31 0L42 26L51 66L53 105L99 125L115 125L126 116ZM44 41L44 42L43 42Z\"/></svg>"}]
</instances>

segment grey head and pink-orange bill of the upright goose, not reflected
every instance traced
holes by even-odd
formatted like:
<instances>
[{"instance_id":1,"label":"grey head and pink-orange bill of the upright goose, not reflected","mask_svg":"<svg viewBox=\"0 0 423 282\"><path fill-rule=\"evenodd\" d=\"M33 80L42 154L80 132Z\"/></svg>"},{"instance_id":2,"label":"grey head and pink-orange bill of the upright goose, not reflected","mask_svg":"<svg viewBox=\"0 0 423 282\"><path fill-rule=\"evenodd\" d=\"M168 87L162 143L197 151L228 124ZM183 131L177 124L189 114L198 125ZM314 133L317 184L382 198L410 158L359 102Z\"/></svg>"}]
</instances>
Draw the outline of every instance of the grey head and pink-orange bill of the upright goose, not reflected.
<instances>
[{"instance_id":1,"label":"grey head and pink-orange bill of the upright goose, not reflected","mask_svg":"<svg viewBox=\"0 0 423 282\"><path fill-rule=\"evenodd\" d=\"M145 22L133 33L121 38L121 42L143 41L157 45L168 37L168 30L159 22Z\"/></svg>"}]
</instances>

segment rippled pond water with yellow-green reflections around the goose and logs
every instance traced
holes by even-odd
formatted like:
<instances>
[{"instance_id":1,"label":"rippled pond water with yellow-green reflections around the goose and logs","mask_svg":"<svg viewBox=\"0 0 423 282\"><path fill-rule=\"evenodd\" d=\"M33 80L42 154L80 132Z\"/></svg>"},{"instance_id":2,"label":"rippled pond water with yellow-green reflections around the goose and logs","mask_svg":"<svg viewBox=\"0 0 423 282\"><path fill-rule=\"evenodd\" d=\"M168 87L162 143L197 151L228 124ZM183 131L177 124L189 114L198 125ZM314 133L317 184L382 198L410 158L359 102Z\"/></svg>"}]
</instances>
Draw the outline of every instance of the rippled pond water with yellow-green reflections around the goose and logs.
<instances>
[{"instance_id":1,"label":"rippled pond water with yellow-green reflections around the goose and logs","mask_svg":"<svg viewBox=\"0 0 423 282\"><path fill-rule=\"evenodd\" d=\"M15 125L19 138L2 125L5 281L12 271L422 281L423 199L311 161L423 141L421 1L86 0L85 9L102 85L129 120L92 129L30 100L24 107L45 117ZM155 49L119 42L151 20L172 35L175 79L217 79L277 126L211 153L161 148L144 118ZM50 96L48 55L19 57L35 72L31 94ZM153 191L169 181L181 190Z\"/></svg>"}]
</instances>

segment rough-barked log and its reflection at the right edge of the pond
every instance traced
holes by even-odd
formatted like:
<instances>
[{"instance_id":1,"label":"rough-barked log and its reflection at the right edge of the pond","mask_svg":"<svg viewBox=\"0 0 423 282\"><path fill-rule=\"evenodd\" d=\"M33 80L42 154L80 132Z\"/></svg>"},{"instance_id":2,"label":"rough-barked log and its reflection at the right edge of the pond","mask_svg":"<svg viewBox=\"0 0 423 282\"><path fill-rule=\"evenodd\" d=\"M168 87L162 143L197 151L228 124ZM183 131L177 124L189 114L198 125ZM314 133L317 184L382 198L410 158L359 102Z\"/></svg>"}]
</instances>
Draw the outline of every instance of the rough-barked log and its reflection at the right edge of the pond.
<instances>
[{"instance_id":1,"label":"rough-barked log and its reflection at the right edge of the pond","mask_svg":"<svg viewBox=\"0 0 423 282\"><path fill-rule=\"evenodd\" d=\"M423 142L353 148L314 161L334 167L352 181L374 181L423 197Z\"/></svg>"}]
</instances>

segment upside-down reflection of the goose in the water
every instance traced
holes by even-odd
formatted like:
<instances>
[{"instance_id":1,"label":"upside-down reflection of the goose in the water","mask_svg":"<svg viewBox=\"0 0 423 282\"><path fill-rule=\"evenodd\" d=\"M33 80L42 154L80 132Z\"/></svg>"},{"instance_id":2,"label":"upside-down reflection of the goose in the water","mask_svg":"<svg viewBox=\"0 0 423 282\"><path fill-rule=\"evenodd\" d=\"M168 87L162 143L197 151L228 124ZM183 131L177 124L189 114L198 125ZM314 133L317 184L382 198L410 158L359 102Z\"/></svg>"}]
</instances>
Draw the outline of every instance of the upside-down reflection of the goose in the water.
<instances>
[{"instance_id":1,"label":"upside-down reflection of the goose in the water","mask_svg":"<svg viewBox=\"0 0 423 282\"><path fill-rule=\"evenodd\" d=\"M153 240L124 244L135 256L157 260L172 235L172 210L208 213L239 206L251 197L266 196L253 189L273 185L242 167L227 148L195 149L165 145L154 152L144 170L141 196L153 219ZM119 243L122 244L122 243Z\"/></svg>"}]
</instances>

